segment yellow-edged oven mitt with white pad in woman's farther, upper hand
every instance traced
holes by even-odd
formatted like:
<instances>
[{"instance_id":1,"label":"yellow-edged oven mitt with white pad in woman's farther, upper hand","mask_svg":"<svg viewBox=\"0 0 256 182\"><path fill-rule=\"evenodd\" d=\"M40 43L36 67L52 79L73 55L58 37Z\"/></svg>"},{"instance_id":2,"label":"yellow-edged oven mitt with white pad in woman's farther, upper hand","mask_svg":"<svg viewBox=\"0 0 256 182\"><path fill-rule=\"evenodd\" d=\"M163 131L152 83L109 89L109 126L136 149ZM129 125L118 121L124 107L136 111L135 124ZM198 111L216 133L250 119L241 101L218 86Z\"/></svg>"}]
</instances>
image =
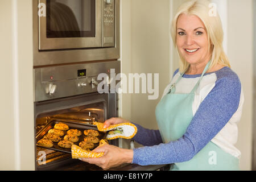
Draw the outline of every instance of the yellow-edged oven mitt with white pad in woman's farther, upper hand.
<instances>
[{"instance_id":1,"label":"yellow-edged oven mitt with white pad in woman's farther, upper hand","mask_svg":"<svg viewBox=\"0 0 256 182\"><path fill-rule=\"evenodd\" d=\"M137 133L137 127L132 123L121 123L118 125L110 125L104 129L104 123L93 122L93 125L98 127L99 131L109 131L106 136L107 140L113 140L116 138L131 139Z\"/></svg>"}]
</instances>

